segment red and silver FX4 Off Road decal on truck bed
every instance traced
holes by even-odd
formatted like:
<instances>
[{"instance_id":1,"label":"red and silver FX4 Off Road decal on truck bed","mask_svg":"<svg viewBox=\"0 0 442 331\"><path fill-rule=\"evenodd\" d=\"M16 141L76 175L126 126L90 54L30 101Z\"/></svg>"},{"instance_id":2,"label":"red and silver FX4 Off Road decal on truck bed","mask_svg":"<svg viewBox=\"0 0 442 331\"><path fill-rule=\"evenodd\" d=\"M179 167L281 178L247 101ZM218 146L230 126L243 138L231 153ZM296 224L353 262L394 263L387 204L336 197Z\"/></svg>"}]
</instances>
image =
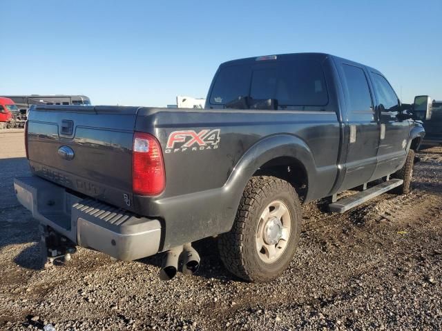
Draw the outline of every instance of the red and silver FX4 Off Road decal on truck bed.
<instances>
[{"instance_id":1,"label":"red and silver FX4 Off Road decal on truck bed","mask_svg":"<svg viewBox=\"0 0 442 331\"><path fill-rule=\"evenodd\" d=\"M186 150L215 150L220 143L221 129L204 129L173 131L167 139L166 153L184 152Z\"/></svg>"}]
</instances>

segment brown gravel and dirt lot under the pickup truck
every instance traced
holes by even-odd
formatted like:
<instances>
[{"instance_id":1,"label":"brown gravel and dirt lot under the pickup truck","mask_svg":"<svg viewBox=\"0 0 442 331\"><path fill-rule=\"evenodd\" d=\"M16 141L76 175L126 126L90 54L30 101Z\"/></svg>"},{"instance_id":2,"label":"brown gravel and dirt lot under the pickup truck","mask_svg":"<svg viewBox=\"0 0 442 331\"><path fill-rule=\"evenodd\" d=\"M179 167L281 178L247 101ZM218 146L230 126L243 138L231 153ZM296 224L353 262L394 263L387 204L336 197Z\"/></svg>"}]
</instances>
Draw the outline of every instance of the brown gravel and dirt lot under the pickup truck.
<instances>
[{"instance_id":1,"label":"brown gravel and dirt lot under the pickup truck","mask_svg":"<svg viewBox=\"0 0 442 331\"><path fill-rule=\"evenodd\" d=\"M215 239L197 275L157 279L160 259L115 261L79 249L37 268L37 224L12 178L26 174L23 132L0 133L0 328L42 330L441 330L442 148L419 153L414 190L345 214L304 207L300 248L276 281L224 270Z\"/></svg>"}]
</instances>

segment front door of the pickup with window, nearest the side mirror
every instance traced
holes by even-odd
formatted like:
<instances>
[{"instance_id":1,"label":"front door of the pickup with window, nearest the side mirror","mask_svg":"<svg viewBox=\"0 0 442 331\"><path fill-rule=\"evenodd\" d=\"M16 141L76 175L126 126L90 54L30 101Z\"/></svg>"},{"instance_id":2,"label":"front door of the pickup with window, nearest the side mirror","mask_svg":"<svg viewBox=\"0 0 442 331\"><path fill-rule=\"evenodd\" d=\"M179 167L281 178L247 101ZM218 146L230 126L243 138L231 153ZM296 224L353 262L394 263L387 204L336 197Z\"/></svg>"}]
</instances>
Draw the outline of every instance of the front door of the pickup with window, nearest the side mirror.
<instances>
[{"instance_id":1,"label":"front door of the pickup with window, nearest the side mirror","mask_svg":"<svg viewBox=\"0 0 442 331\"><path fill-rule=\"evenodd\" d=\"M376 112L381 123L378 147L378 165L372 179L378 179L402 167L407 157L410 121L399 120L399 100L390 83L376 70L369 70L372 79Z\"/></svg>"}]
</instances>

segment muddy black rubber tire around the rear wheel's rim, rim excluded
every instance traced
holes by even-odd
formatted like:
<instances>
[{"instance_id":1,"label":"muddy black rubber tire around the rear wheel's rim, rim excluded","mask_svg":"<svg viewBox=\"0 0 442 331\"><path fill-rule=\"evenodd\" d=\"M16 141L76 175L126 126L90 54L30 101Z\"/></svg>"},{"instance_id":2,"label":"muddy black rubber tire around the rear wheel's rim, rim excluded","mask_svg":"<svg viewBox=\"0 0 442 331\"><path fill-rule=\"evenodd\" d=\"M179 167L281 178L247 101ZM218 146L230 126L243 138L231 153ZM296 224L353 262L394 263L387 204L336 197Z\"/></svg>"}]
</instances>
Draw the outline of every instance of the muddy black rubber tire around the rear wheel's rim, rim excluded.
<instances>
[{"instance_id":1,"label":"muddy black rubber tire around the rear wheel's rim, rim excluded","mask_svg":"<svg viewBox=\"0 0 442 331\"><path fill-rule=\"evenodd\" d=\"M280 257L272 263L260 259L256 234L262 212L272 201L282 201L289 210L290 235ZM298 194L287 181L270 176L252 177L247 183L230 232L219 237L220 257L231 273L246 281L276 279L294 257L299 243L302 213Z\"/></svg>"}]
</instances>

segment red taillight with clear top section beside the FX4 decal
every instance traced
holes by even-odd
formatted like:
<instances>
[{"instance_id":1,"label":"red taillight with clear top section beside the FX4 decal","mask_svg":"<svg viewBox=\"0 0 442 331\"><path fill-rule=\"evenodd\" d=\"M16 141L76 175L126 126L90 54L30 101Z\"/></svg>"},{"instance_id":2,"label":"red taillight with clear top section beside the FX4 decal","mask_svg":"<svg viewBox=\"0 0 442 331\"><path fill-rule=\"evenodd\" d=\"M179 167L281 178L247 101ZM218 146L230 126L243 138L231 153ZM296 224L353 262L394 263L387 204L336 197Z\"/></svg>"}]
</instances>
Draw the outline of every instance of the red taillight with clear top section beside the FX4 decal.
<instances>
[{"instance_id":1,"label":"red taillight with clear top section beside the FX4 decal","mask_svg":"<svg viewBox=\"0 0 442 331\"><path fill-rule=\"evenodd\" d=\"M166 185L160 143L148 133L135 132L132 150L132 190L135 194L157 195Z\"/></svg>"}]
</instances>

